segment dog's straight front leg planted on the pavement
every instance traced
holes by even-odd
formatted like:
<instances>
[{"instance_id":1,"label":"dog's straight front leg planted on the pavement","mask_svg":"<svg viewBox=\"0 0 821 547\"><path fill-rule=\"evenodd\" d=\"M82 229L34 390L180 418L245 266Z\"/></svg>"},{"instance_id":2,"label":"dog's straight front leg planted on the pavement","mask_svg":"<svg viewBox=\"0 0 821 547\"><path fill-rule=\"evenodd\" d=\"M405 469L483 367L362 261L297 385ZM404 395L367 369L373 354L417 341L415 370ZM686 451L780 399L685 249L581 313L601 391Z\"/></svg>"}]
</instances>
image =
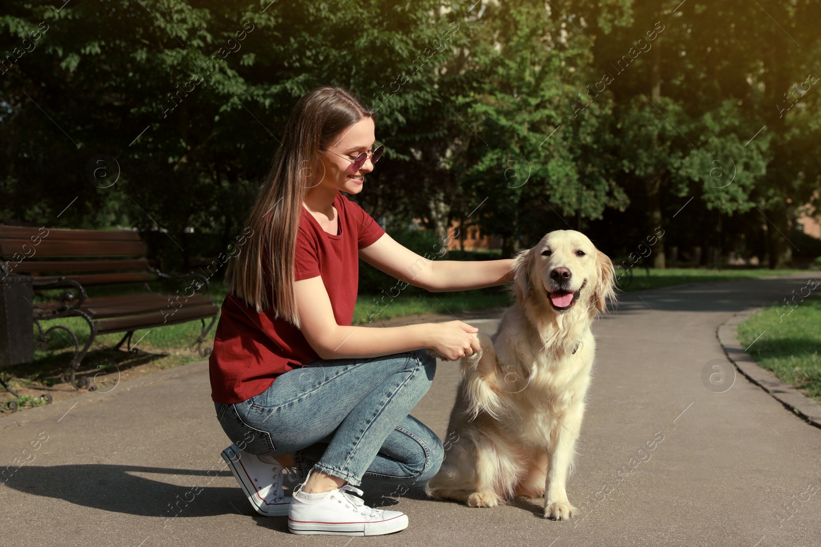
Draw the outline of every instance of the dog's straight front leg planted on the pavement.
<instances>
[{"instance_id":1,"label":"dog's straight front leg planted on the pavement","mask_svg":"<svg viewBox=\"0 0 821 547\"><path fill-rule=\"evenodd\" d=\"M548 447L548 477L544 485L545 518L562 521L578 512L567 499L566 484L584 412L584 403L576 403L566 410L562 419L557 420L557 431Z\"/></svg>"}]
</instances>

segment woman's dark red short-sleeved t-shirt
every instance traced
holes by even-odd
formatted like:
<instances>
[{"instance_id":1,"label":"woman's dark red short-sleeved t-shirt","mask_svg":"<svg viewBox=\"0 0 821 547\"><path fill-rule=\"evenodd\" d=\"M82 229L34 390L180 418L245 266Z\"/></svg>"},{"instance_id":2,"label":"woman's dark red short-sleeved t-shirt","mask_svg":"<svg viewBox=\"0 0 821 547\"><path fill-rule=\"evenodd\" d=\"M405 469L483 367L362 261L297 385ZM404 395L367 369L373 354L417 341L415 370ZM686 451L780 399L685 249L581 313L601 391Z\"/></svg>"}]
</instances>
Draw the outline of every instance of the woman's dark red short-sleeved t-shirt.
<instances>
[{"instance_id":1,"label":"woman's dark red short-sleeved t-shirt","mask_svg":"<svg viewBox=\"0 0 821 547\"><path fill-rule=\"evenodd\" d=\"M385 230L362 207L341 193L333 200L337 235L328 234L302 207L296 235L294 279L322 276L337 325L351 325L359 289L359 249ZM296 326L273 318L273 308L257 312L228 294L209 357L211 399L241 403L259 395L284 372L319 359Z\"/></svg>"}]
</instances>

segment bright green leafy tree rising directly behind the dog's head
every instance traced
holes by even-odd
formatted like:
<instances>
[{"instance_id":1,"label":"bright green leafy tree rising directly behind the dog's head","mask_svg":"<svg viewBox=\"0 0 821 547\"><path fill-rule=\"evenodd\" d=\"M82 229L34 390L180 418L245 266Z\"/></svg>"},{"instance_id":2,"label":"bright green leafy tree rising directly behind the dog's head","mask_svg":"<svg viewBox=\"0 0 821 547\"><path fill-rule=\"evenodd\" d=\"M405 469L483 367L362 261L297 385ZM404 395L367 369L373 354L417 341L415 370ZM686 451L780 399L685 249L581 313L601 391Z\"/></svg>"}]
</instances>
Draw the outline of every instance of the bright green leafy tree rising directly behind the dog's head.
<instances>
[{"instance_id":1,"label":"bright green leafy tree rising directly behind the dog's head","mask_svg":"<svg viewBox=\"0 0 821 547\"><path fill-rule=\"evenodd\" d=\"M454 122L451 164L470 197L463 203L481 208L463 220L501 235L510 257L525 236L534 244L549 226L570 226L564 217L575 215L578 227L605 207L626 207L608 175L608 116L566 109L589 81L585 39L568 34L557 10L528 0L484 5L470 28L468 54L454 67L461 77L451 82L464 121Z\"/></svg>"}]
</instances>

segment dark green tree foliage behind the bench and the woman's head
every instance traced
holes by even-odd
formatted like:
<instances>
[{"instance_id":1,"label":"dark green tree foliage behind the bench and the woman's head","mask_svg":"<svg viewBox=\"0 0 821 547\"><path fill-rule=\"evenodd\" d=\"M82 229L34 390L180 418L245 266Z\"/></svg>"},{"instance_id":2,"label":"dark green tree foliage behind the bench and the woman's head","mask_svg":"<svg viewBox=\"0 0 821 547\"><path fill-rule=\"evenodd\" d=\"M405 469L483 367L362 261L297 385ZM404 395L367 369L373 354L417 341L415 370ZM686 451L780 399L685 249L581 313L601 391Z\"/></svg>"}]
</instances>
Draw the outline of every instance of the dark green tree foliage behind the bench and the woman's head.
<instances>
[{"instance_id":1,"label":"dark green tree foliage behind the bench and the woman's head","mask_svg":"<svg viewBox=\"0 0 821 547\"><path fill-rule=\"evenodd\" d=\"M196 246L191 233L213 234L220 242L207 252L216 254L241 232L292 105L321 84L353 89L378 108L379 138L389 143L380 168L398 162L419 170L424 161L409 148L438 131L422 124L441 120L447 107L431 89L397 89L397 75L422 81L443 62L427 53L451 47L450 21L432 15L440 7L427 0L351 1L343 9L184 0L11 7L0 19L4 50L40 21L48 30L34 51L3 66L0 217L157 230L154 251L184 266ZM392 84L397 93L388 99ZM115 172L117 184L108 185ZM415 192L373 180L383 203L365 205L377 216Z\"/></svg>"}]
</instances>

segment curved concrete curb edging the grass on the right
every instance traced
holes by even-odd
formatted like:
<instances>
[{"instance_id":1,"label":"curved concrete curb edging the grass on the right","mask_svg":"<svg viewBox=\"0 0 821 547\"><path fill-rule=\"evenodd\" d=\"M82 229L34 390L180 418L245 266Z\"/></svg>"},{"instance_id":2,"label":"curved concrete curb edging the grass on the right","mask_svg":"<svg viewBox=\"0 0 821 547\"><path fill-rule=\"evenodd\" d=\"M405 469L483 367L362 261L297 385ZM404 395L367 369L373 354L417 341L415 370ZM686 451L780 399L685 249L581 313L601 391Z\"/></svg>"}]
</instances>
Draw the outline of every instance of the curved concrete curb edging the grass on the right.
<instances>
[{"instance_id":1,"label":"curved concrete curb edging the grass on the right","mask_svg":"<svg viewBox=\"0 0 821 547\"><path fill-rule=\"evenodd\" d=\"M821 404L796 390L793 386L778 380L773 372L759 367L750 354L745 352L744 346L738 341L736 330L738 326L761 308L753 308L738 312L725 321L716 330L719 344L722 344L727 358L736 365L736 368L745 378L772 395L786 408L803 418L811 425L821 428Z\"/></svg>"}]
</instances>

